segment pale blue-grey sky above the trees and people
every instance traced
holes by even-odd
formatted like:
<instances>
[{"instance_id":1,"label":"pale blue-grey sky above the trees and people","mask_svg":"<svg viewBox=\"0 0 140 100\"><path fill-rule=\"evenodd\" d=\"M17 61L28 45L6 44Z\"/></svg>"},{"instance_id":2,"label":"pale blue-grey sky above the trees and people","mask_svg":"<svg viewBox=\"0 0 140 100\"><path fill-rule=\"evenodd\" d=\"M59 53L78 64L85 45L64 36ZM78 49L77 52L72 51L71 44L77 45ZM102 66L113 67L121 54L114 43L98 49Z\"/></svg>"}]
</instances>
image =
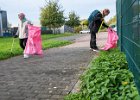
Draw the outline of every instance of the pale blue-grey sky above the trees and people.
<instances>
[{"instance_id":1,"label":"pale blue-grey sky above the trees and people","mask_svg":"<svg viewBox=\"0 0 140 100\"><path fill-rule=\"evenodd\" d=\"M17 25L17 14L20 12L25 13L27 19L33 23L39 23L40 8L44 4L45 0L0 0L0 8L7 11L8 21L13 26ZM63 7L66 17L70 11L75 11L80 19L87 19L93 10L104 8L111 11L106 20L116 14L116 0L59 0L59 4Z\"/></svg>"}]
</instances>

